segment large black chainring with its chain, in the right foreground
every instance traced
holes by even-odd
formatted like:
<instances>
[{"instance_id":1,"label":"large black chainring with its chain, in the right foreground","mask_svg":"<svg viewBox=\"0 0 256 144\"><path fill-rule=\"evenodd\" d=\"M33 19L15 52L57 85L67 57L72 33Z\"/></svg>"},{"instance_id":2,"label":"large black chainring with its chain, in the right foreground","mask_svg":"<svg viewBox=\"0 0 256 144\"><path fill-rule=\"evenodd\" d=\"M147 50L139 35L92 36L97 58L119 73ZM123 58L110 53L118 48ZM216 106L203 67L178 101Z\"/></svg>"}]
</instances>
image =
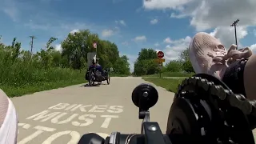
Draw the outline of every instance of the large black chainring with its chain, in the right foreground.
<instances>
[{"instance_id":1,"label":"large black chainring with its chain, in the right foreground","mask_svg":"<svg viewBox=\"0 0 256 144\"><path fill-rule=\"evenodd\" d=\"M176 143L254 144L246 114L252 106L208 74L186 78L170 108L167 134Z\"/></svg>"}]
</instances>

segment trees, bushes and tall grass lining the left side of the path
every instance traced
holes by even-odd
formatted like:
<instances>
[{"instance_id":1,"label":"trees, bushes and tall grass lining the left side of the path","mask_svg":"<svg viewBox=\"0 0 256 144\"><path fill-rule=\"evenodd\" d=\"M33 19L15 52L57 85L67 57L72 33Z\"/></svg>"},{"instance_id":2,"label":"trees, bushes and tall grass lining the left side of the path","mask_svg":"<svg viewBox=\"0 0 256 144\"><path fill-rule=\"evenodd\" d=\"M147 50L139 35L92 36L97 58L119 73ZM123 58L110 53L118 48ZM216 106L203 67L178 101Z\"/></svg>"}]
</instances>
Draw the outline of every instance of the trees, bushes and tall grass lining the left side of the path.
<instances>
[{"instance_id":1,"label":"trees, bushes and tall grass lining the left side of the path","mask_svg":"<svg viewBox=\"0 0 256 144\"><path fill-rule=\"evenodd\" d=\"M27 86L38 82L70 81L78 77L78 71L85 74L87 54L95 51L102 68L112 67L115 74L130 74L126 55L120 56L114 42L98 38L90 30L79 30L67 35L61 43L62 50L55 50L50 38L46 46L31 54L22 49L22 43L13 39L10 45L0 41L0 86Z\"/></svg>"}]
</instances>

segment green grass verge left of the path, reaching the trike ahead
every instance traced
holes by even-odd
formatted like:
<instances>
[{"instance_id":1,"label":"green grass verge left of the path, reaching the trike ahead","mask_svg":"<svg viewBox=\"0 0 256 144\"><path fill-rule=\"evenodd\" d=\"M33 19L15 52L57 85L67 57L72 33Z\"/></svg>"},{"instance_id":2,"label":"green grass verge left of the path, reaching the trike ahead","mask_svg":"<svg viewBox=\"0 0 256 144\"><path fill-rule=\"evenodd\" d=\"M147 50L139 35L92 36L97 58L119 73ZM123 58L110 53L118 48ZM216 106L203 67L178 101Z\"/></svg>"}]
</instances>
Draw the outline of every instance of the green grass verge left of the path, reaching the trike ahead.
<instances>
[{"instance_id":1,"label":"green grass verge left of the path, reaching the trike ahead","mask_svg":"<svg viewBox=\"0 0 256 144\"><path fill-rule=\"evenodd\" d=\"M8 68L8 67L7 67ZM9 97L33 94L42 90L51 90L59 87L85 83L85 72L79 70L63 69L59 67L31 70L16 70L1 77L0 88ZM1 70L0 70L1 71ZM6 71L2 70L2 73Z\"/></svg>"}]
</instances>

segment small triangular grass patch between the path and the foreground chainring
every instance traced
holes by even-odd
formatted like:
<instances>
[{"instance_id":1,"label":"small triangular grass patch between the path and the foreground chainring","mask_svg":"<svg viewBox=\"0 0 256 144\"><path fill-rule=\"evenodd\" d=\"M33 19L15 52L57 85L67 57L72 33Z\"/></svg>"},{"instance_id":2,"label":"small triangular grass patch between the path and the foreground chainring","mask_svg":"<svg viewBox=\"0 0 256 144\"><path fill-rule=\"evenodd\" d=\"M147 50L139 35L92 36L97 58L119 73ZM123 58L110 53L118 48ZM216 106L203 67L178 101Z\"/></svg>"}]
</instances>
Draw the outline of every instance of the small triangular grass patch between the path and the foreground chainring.
<instances>
[{"instance_id":1,"label":"small triangular grass patch between the path and the foreground chainring","mask_svg":"<svg viewBox=\"0 0 256 144\"><path fill-rule=\"evenodd\" d=\"M152 82L156 86L161 86L168 91L177 92L178 84L180 84L185 78L142 78L147 82Z\"/></svg>"}]
</instances>

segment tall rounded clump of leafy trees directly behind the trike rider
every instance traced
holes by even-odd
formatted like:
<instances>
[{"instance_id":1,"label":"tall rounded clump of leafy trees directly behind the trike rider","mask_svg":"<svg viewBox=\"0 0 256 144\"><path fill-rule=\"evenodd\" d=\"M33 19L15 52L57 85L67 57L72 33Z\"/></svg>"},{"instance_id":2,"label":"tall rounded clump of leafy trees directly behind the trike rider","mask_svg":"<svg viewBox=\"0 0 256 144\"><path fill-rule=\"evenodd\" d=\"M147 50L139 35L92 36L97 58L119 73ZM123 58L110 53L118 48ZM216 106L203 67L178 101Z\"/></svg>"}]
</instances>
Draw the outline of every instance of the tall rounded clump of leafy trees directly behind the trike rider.
<instances>
[{"instance_id":1,"label":"tall rounded clump of leafy trees directly behind the trike rider","mask_svg":"<svg viewBox=\"0 0 256 144\"><path fill-rule=\"evenodd\" d=\"M113 67L118 74L130 73L128 58L119 56L118 46L98 38L98 34L92 34L90 30L68 34L62 42L62 58L65 58L62 64L73 69L86 68L87 54L96 51L94 42L97 43L97 57L103 68Z\"/></svg>"}]
</instances>

